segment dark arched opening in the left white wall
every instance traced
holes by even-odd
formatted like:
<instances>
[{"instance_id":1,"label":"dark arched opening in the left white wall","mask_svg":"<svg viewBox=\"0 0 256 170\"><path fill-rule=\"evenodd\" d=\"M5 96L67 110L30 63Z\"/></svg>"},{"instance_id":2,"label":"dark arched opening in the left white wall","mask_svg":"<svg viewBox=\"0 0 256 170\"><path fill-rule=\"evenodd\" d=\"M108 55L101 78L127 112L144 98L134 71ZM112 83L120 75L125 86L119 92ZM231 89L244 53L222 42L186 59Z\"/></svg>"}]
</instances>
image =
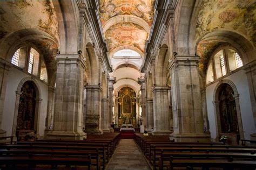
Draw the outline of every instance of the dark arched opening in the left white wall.
<instances>
[{"instance_id":1,"label":"dark arched opening in the left white wall","mask_svg":"<svg viewBox=\"0 0 256 170\"><path fill-rule=\"evenodd\" d=\"M26 81L19 96L16 137L18 141L26 140L26 134L36 133L36 87L32 81Z\"/></svg>"}]
</instances>

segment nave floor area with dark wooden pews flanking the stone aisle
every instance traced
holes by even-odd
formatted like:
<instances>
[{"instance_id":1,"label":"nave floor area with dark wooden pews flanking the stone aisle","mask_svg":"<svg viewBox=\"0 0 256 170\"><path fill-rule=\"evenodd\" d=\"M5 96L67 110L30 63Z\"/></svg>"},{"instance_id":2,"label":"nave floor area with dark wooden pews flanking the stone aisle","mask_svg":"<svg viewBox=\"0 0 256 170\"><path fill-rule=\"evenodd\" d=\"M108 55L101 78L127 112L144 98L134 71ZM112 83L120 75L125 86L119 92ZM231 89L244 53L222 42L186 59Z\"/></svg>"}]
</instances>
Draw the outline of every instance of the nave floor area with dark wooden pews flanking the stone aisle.
<instances>
[{"instance_id":1,"label":"nave floor area with dark wooden pews flanking the stone aisle","mask_svg":"<svg viewBox=\"0 0 256 170\"><path fill-rule=\"evenodd\" d=\"M132 133L87 139L37 139L6 141L0 145L0 169L208 169L252 170L256 146L225 142L177 142L168 136ZM129 138L129 139L128 139Z\"/></svg>"}]
</instances>

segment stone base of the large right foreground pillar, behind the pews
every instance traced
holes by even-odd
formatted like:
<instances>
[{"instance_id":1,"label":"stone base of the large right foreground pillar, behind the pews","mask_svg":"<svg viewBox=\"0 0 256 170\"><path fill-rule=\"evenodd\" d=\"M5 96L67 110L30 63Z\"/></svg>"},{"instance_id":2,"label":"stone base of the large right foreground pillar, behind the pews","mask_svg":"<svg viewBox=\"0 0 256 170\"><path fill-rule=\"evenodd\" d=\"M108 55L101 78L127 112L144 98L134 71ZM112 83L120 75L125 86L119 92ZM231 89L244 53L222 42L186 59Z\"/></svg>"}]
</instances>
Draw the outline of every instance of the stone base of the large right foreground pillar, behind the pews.
<instances>
[{"instance_id":1,"label":"stone base of the large right foreground pillar, behind the pews","mask_svg":"<svg viewBox=\"0 0 256 170\"><path fill-rule=\"evenodd\" d=\"M207 133L171 133L170 140L189 142L210 142L211 136Z\"/></svg>"}]
</instances>

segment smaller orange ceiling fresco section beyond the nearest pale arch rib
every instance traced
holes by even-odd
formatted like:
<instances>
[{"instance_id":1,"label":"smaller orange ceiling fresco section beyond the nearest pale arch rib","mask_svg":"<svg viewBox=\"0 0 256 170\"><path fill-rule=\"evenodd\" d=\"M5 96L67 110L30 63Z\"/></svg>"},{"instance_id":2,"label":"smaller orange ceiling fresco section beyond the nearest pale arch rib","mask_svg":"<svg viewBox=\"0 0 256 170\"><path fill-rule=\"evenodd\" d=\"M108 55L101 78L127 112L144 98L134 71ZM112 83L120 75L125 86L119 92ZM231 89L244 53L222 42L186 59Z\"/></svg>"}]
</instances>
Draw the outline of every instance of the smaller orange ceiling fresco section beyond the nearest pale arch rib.
<instances>
[{"instance_id":1,"label":"smaller orange ceiling fresco section beyond the nearest pale arch rib","mask_svg":"<svg viewBox=\"0 0 256 170\"><path fill-rule=\"evenodd\" d=\"M147 32L138 24L123 22L112 25L105 32L105 37L110 52L119 46L134 46L144 52Z\"/></svg>"}]
</instances>

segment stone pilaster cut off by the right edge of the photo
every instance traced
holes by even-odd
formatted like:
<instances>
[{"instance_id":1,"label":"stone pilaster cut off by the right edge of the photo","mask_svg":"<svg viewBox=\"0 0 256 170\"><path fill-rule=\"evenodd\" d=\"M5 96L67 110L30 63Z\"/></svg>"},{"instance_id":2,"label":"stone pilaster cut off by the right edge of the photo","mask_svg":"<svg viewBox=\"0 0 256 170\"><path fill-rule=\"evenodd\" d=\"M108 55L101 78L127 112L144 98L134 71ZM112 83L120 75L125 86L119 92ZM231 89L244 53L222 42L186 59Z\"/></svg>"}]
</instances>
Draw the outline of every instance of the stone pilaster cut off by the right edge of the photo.
<instances>
[{"instance_id":1,"label":"stone pilaster cut off by the right edge of the photo","mask_svg":"<svg viewBox=\"0 0 256 170\"><path fill-rule=\"evenodd\" d=\"M245 70L250 90L254 126L256 129L256 60L245 66ZM251 139L256 140L256 132L251 134Z\"/></svg>"}]
</instances>

